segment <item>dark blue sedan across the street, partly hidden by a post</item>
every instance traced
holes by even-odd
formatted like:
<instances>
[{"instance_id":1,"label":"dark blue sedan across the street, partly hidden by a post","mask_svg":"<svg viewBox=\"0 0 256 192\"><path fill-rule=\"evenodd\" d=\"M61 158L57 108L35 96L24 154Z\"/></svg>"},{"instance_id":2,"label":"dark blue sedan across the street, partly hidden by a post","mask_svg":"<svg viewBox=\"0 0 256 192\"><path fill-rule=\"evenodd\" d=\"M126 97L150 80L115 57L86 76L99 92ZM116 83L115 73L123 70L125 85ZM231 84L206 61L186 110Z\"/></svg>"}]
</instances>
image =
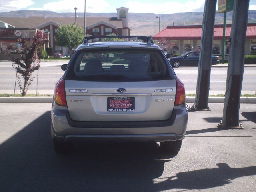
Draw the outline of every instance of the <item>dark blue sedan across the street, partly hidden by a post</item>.
<instances>
[{"instance_id":1,"label":"dark blue sedan across the street, partly hidden by a post","mask_svg":"<svg viewBox=\"0 0 256 192\"><path fill-rule=\"evenodd\" d=\"M168 58L170 64L173 67L179 66L198 66L199 63L199 51L189 51L178 57ZM212 65L217 65L220 63L219 56L212 55Z\"/></svg>"}]
</instances>

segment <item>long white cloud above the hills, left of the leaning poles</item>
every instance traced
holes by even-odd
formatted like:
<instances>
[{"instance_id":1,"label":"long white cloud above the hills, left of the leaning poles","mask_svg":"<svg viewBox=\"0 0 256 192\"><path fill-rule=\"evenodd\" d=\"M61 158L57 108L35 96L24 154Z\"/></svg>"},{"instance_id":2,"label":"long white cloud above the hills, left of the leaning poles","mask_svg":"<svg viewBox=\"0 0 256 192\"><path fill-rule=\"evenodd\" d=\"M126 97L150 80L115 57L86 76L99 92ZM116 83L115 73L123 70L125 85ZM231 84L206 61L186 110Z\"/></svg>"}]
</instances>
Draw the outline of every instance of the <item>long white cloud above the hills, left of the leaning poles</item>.
<instances>
[{"instance_id":1,"label":"long white cloud above the hills, left of the leaning poles","mask_svg":"<svg viewBox=\"0 0 256 192\"><path fill-rule=\"evenodd\" d=\"M205 0L189 0L186 3L166 2L156 4L143 4L136 1L128 1L126 7L131 13L148 13L154 12L156 14L170 14L181 12L198 12L204 11Z\"/></svg>"}]
</instances>

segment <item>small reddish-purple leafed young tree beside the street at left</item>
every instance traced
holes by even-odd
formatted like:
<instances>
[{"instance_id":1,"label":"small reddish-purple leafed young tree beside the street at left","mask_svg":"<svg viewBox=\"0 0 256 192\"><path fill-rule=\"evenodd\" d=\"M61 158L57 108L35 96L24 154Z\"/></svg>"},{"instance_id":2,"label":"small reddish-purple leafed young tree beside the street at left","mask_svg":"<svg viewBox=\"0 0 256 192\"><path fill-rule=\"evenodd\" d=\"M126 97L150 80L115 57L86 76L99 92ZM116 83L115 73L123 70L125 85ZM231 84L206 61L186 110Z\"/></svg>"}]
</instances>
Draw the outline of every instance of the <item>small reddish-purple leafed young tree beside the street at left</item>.
<instances>
[{"instance_id":1,"label":"small reddish-purple leafed young tree beside the street at left","mask_svg":"<svg viewBox=\"0 0 256 192\"><path fill-rule=\"evenodd\" d=\"M33 82L34 77L31 78L32 72L40 68L40 60L38 60L39 47L43 43L42 37L40 35L35 35L31 40L31 46L26 45L25 38L19 38L21 50L16 46L9 46L8 49L13 50L19 57L12 58L12 66L18 73L18 85L20 88L21 96L26 96L26 92L30 84ZM22 85L21 78L19 74L24 79Z\"/></svg>"}]
</instances>

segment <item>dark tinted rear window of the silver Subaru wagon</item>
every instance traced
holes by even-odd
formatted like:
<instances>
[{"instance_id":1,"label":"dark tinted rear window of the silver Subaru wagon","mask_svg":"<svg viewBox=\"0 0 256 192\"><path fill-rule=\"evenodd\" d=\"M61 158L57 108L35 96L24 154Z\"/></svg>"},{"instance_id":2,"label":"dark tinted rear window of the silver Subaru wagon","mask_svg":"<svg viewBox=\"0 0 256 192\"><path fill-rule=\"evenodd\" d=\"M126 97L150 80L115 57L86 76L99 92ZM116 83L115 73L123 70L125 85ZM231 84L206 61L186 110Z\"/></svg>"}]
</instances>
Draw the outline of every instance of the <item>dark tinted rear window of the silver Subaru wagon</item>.
<instances>
[{"instance_id":1,"label":"dark tinted rear window of the silver Subaru wagon","mask_svg":"<svg viewBox=\"0 0 256 192\"><path fill-rule=\"evenodd\" d=\"M171 79L166 61L156 51L80 52L74 74L88 81L154 81Z\"/></svg>"}]
</instances>

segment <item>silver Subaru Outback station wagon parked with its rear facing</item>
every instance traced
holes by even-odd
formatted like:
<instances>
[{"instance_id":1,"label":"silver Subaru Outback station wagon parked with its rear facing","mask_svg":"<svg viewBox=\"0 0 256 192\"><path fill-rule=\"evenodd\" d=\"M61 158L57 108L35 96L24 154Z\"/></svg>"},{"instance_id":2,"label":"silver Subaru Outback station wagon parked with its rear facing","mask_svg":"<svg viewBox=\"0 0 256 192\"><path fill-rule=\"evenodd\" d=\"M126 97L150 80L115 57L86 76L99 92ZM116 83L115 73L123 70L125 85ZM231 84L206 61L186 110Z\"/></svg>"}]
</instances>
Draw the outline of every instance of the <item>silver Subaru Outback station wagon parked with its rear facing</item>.
<instances>
[{"instance_id":1,"label":"silver Subaru Outback station wagon parked with its rear facing","mask_svg":"<svg viewBox=\"0 0 256 192\"><path fill-rule=\"evenodd\" d=\"M62 66L55 86L56 153L76 141L154 141L165 152L178 152L188 121L185 89L164 52L150 37L88 43L93 38L86 37Z\"/></svg>"}]
</instances>

